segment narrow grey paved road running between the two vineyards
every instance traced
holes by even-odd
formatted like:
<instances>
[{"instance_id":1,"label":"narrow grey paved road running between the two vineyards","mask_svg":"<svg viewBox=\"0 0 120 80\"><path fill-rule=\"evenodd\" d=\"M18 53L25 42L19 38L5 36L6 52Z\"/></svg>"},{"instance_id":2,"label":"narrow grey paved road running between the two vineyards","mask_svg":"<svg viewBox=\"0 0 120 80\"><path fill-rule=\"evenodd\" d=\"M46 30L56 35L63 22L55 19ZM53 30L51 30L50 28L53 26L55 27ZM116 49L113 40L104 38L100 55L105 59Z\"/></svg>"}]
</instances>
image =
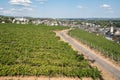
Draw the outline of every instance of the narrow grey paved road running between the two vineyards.
<instances>
[{"instance_id":1,"label":"narrow grey paved road running between the two vineyards","mask_svg":"<svg viewBox=\"0 0 120 80\"><path fill-rule=\"evenodd\" d=\"M66 42L71 44L78 52L83 53L85 56L89 57L92 60L95 60L95 63L100 65L105 71L109 74L113 75L116 80L120 80L120 70L115 68L113 65L107 63L99 56L93 54L92 52L88 51L86 48L82 47L76 41L74 41L70 36L66 35L66 31L60 31L57 33L59 37L62 37Z\"/></svg>"}]
</instances>

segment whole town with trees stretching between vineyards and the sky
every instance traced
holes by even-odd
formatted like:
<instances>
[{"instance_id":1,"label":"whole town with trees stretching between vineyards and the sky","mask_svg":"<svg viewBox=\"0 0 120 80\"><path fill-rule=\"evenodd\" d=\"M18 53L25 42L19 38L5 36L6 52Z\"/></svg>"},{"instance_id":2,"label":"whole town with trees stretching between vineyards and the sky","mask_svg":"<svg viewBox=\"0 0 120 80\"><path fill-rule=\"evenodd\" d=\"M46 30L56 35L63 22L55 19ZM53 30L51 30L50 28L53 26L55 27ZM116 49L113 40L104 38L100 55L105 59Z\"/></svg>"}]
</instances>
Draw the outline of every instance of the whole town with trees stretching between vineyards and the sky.
<instances>
[{"instance_id":1,"label":"whole town with trees stretching between vineyards and the sky","mask_svg":"<svg viewBox=\"0 0 120 80\"><path fill-rule=\"evenodd\" d=\"M0 23L13 24L44 24L47 26L68 26L80 28L90 33L101 35L108 40L120 43L120 19L75 19L75 18L32 18L32 17L9 17L0 16Z\"/></svg>"}]
</instances>

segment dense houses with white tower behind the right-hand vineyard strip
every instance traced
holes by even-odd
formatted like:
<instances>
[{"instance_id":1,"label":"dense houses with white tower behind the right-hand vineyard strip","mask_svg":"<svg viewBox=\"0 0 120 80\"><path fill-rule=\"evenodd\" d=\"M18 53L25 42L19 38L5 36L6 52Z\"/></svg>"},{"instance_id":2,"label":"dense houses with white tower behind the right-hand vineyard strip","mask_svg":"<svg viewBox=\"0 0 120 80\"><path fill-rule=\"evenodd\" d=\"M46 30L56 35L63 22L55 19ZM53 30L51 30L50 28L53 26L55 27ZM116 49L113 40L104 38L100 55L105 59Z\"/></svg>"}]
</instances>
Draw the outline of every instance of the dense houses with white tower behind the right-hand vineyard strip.
<instances>
[{"instance_id":1,"label":"dense houses with white tower behind the right-hand vineyard strip","mask_svg":"<svg viewBox=\"0 0 120 80\"><path fill-rule=\"evenodd\" d=\"M102 35L108 40L120 43L120 28L114 27L113 25L103 28L101 25L82 22L81 25L76 25L75 27L79 27L85 31L95 33L96 35Z\"/></svg>"}]
</instances>

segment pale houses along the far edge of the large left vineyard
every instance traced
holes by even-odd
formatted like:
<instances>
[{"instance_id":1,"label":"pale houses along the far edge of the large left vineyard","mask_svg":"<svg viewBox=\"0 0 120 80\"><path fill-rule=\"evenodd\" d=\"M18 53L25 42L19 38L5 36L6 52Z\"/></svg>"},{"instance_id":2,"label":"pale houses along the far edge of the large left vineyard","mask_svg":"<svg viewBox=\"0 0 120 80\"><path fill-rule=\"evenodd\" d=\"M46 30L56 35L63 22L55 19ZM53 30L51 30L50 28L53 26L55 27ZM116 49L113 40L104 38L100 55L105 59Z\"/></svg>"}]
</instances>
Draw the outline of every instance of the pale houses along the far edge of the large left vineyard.
<instances>
[{"instance_id":1,"label":"pale houses along the far edge of the large left vineyard","mask_svg":"<svg viewBox=\"0 0 120 80\"><path fill-rule=\"evenodd\" d=\"M7 23L7 22L5 20L2 20L0 23ZM29 19L24 18L24 17L13 18L13 19L11 19L11 23L16 23L16 24L32 23L32 24L36 24L36 25L45 24L48 26L58 26L61 24L60 21L56 21L54 19L33 19L30 21Z\"/></svg>"}]
</instances>

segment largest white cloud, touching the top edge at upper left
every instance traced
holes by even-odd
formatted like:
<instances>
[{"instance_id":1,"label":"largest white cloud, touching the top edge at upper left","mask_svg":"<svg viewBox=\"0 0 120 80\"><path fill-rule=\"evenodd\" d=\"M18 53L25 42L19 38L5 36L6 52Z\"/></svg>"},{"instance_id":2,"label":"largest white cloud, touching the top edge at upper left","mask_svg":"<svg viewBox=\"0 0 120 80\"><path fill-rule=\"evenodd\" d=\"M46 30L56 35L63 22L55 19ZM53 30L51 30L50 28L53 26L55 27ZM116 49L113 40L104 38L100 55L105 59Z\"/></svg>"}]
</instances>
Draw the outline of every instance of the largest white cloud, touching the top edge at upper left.
<instances>
[{"instance_id":1,"label":"largest white cloud, touching the top edge at upper left","mask_svg":"<svg viewBox=\"0 0 120 80\"><path fill-rule=\"evenodd\" d=\"M32 2L30 0L10 0L9 3L12 5L30 6Z\"/></svg>"}]
</instances>

